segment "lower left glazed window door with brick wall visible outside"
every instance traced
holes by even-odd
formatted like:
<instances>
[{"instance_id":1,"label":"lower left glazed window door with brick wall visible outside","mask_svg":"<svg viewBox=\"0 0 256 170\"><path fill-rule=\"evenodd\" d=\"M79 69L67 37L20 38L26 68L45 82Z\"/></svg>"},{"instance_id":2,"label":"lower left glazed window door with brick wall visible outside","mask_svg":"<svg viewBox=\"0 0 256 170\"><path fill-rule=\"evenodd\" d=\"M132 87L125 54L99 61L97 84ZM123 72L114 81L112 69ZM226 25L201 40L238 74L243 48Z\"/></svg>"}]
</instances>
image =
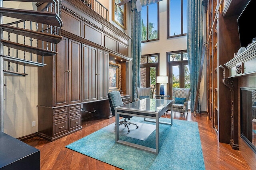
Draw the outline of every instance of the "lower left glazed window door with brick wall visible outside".
<instances>
[{"instance_id":1,"label":"lower left glazed window door with brick wall visible outside","mask_svg":"<svg viewBox=\"0 0 256 170\"><path fill-rule=\"evenodd\" d=\"M156 89L156 76L158 75L159 54L142 55L140 57L140 86L151 87L151 98L154 98Z\"/></svg>"}]
</instances>

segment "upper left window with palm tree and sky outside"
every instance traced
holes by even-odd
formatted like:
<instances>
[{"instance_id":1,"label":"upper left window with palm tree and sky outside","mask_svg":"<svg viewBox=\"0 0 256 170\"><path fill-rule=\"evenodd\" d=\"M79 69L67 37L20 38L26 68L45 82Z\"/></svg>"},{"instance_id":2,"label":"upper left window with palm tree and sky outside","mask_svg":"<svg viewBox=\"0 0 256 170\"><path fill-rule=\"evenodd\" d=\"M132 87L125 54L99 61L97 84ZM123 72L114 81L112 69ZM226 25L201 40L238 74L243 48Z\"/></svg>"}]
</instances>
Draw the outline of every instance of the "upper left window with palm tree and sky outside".
<instances>
[{"instance_id":1,"label":"upper left window with palm tree and sky outside","mask_svg":"<svg viewBox=\"0 0 256 170\"><path fill-rule=\"evenodd\" d=\"M154 41L159 39L159 4L151 4L142 7L141 11L142 31L141 41Z\"/></svg>"}]
</instances>

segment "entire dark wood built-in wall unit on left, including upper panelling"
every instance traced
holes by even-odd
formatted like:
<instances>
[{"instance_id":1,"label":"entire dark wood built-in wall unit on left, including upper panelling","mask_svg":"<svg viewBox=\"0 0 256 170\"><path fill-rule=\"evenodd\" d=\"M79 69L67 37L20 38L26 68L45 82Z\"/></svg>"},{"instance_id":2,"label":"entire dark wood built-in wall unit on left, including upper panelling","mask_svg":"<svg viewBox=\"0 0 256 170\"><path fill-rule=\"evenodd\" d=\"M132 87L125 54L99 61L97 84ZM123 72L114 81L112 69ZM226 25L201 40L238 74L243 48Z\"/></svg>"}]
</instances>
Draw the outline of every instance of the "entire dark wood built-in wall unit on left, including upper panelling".
<instances>
[{"instance_id":1,"label":"entire dark wood built-in wall unit on left, including upper panelling","mask_svg":"<svg viewBox=\"0 0 256 170\"><path fill-rule=\"evenodd\" d=\"M44 8L43 3L37 5L38 10ZM96 115L111 117L110 54L123 60L123 92L126 61L132 60L128 57L131 38L109 21L80 0L63 0L61 8L63 39L56 46L45 45L55 48L58 54L39 57L46 66L38 68L38 136L49 141L80 130L82 119ZM124 100L130 102L130 96Z\"/></svg>"}]
</instances>

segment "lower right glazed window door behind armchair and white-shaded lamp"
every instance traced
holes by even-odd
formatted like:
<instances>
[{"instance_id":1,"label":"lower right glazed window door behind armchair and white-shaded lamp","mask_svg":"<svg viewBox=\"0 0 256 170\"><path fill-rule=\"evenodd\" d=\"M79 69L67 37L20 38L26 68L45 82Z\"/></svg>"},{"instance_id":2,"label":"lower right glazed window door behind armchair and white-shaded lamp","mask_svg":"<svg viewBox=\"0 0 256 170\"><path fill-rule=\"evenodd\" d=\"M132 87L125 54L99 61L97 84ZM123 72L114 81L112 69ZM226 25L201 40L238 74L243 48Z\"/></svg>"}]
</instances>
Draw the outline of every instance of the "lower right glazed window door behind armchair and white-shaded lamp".
<instances>
[{"instance_id":1,"label":"lower right glazed window door behind armchair and white-shaded lamp","mask_svg":"<svg viewBox=\"0 0 256 170\"><path fill-rule=\"evenodd\" d=\"M172 96L172 88L190 88L188 53L186 50L168 52L167 59L168 80L172 80L167 92Z\"/></svg>"}]
</instances>

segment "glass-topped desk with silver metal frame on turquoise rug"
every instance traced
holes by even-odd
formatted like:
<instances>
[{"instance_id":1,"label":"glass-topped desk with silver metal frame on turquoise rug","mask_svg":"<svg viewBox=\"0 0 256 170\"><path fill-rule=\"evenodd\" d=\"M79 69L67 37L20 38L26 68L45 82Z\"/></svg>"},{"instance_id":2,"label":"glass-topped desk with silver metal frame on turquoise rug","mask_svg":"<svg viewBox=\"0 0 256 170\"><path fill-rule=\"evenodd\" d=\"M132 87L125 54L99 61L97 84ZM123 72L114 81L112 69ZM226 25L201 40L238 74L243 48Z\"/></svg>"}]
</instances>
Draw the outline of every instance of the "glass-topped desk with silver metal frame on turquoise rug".
<instances>
[{"instance_id":1,"label":"glass-topped desk with silver metal frame on turquoise rug","mask_svg":"<svg viewBox=\"0 0 256 170\"><path fill-rule=\"evenodd\" d=\"M159 118L171 108L170 123L160 122ZM156 122L156 149L122 141L119 138L119 117L120 115L130 115L137 117L144 117L144 121ZM146 118L150 118L146 119ZM153 120L152 120L153 119ZM132 102L123 106L116 107L116 143L134 147L137 149L146 150L154 154L159 153L159 123L172 125L172 100L164 99L142 99L137 102Z\"/></svg>"}]
</instances>

